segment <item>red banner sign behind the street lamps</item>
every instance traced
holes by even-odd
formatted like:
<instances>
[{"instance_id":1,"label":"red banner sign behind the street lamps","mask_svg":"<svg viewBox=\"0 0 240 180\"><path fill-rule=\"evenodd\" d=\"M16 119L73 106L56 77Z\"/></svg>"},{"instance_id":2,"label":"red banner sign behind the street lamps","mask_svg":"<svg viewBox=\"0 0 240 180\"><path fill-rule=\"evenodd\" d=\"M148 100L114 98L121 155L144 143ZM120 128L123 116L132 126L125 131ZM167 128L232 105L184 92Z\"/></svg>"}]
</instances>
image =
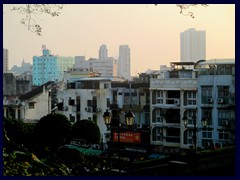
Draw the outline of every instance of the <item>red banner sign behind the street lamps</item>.
<instances>
[{"instance_id":1,"label":"red banner sign behind the street lamps","mask_svg":"<svg viewBox=\"0 0 240 180\"><path fill-rule=\"evenodd\" d=\"M120 142L132 142L132 143L140 143L141 142L141 134L140 132L120 132ZM118 142L118 133L113 132L113 141Z\"/></svg>"}]
</instances>

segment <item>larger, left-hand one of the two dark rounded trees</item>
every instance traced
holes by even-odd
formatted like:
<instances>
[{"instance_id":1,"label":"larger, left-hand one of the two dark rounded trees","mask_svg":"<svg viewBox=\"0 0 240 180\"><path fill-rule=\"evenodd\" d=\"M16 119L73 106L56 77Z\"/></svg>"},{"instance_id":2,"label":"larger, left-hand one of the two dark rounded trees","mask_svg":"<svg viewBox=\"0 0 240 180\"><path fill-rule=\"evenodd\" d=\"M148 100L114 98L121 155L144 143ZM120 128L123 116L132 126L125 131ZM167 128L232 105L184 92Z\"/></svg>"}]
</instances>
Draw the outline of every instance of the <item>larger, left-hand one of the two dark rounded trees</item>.
<instances>
[{"instance_id":1,"label":"larger, left-hand one of the two dark rounded trees","mask_svg":"<svg viewBox=\"0 0 240 180\"><path fill-rule=\"evenodd\" d=\"M46 147L57 148L69 137L71 123L66 116L52 113L42 117L36 124L37 142Z\"/></svg>"}]
</instances>

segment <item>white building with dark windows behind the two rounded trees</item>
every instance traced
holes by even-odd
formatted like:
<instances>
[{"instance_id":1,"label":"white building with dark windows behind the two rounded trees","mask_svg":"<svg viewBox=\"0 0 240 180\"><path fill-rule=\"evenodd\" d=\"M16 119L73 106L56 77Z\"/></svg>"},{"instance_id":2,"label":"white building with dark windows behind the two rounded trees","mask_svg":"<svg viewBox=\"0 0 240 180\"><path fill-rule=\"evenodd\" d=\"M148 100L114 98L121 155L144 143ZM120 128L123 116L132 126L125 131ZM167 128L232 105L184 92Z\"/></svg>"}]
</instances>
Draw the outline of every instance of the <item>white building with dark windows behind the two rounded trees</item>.
<instances>
[{"instance_id":1,"label":"white building with dark windows behind the two rounded trees","mask_svg":"<svg viewBox=\"0 0 240 180\"><path fill-rule=\"evenodd\" d=\"M105 78L82 78L75 87L58 92L58 112L64 114L71 123L88 119L97 123L103 141L107 132L103 113L112 101L111 80Z\"/></svg>"}]
</instances>

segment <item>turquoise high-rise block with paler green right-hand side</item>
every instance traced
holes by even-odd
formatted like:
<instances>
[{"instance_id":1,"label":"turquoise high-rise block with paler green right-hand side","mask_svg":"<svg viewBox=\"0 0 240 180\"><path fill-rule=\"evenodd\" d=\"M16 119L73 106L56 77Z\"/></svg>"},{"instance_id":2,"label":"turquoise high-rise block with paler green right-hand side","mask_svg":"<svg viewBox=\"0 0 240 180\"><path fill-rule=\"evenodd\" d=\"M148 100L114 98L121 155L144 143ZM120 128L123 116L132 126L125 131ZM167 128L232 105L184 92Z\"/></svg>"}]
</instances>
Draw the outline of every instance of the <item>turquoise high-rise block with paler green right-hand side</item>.
<instances>
[{"instance_id":1,"label":"turquoise high-rise block with paler green right-hand side","mask_svg":"<svg viewBox=\"0 0 240 180\"><path fill-rule=\"evenodd\" d=\"M48 81L60 81L64 71L73 67L73 57L54 56L43 48L42 56L33 57L33 85L40 86Z\"/></svg>"}]
</instances>

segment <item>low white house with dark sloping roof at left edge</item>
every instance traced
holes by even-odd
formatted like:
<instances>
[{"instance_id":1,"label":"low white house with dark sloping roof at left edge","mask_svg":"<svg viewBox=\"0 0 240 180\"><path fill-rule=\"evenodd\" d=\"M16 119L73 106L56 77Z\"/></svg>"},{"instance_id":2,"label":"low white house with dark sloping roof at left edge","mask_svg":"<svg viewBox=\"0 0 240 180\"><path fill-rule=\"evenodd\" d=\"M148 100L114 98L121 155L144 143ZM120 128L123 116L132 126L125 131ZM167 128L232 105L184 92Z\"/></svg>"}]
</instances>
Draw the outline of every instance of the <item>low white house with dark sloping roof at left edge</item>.
<instances>
[{"instance_id":1,"label":"low white house with dark sloping roof at left edge","mask_svg":"<svg viewBox=\"0 0 240 180\"><path fill-rule=\"evenodd\" d=\"M21 119L23 122L38 122L43 116L51 113L53 82L48 82L30 92L15 96L4 97L4 117Z\"/></svg>"}]
</instances>

